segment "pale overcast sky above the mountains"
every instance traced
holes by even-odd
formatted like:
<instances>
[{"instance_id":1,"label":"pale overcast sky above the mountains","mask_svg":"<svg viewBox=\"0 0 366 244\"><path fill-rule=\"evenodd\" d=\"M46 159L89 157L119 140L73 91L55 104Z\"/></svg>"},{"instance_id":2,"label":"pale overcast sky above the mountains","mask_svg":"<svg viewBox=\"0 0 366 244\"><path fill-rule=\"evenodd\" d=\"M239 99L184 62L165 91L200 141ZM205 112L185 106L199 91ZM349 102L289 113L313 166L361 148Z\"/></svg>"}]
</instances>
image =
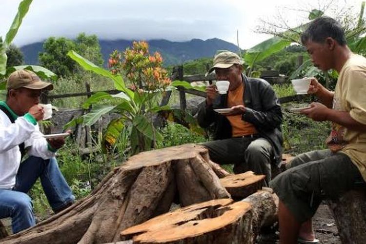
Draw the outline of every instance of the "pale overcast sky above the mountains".
<instances>
[{"instance_id":1,"label":"pale overcast sky above the mountains","mask_svg":"<svg viewBox=\"0 0 366 244\"><path fill-rule=\"evenodd\" d=\"M319 1L321 3L319 3ZM50 36L75 38L80 32L99 39L188 41L219 38L243 49L270 36L255 33L260 19L273 21L280 12L291 27L329 0L33 0L13 41L24 45ZM362 0L334 0L354 6ZM4 38L20 0L0 0L0 36Z\"/></svg>"}]
</instances>

